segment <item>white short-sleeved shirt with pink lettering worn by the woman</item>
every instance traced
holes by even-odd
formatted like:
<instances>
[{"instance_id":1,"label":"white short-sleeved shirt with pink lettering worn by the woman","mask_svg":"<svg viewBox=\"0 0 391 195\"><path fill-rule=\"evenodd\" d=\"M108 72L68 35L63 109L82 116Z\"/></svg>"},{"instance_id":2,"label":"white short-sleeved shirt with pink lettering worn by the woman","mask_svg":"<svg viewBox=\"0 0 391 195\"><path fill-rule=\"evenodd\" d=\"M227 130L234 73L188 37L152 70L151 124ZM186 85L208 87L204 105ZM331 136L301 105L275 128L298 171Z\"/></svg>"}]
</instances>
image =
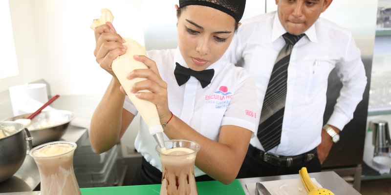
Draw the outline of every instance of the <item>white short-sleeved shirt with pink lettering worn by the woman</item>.
<instances>
[{"instance_id":1,"label":"white short-sleeved shirt with pink lettering worn by the woman","mask_svg":"<svg viewBox=\"0 0 391 195\"><path fill-rule=\"evenodd\" d=\"M188 68L179 49L152 50L148 52L148 57L156 62L160 76L167 82L170 111L195 131L214 141L218 140L222 125L235 125L257 132L261 102L256 95L254 78L243 68L218 60L207 68L215 69L215 75L205 88L194 77L178 86L174 76L175 62ZM129 98L125 99L124 108L136 115L134 105ZM168 140L168 137L164 138ZM161 171L155 146L148 127L140 120L135 148ZM195 176L201 175L205 173L195 167Z\"/></svg>"}]
</instances>

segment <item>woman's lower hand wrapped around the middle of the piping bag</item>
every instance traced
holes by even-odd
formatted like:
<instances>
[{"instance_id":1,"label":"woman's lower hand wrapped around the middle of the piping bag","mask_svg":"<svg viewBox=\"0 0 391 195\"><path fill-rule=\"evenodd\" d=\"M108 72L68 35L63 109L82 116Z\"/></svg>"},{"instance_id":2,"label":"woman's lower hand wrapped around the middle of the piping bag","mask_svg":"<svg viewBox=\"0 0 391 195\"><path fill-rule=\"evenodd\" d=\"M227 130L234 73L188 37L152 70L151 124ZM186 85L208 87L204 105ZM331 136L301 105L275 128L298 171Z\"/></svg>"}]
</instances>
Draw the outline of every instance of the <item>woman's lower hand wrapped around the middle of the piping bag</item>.
<instances>
[{"instance_id":1,"label":"woman's lower hand wrapped around the middle of the piping bag","mask_svg":"<svg viewBox=\"0 0 391 195\"><path fill-rule=\"evenodd\" d=\"M133 56L137 61L143 62L148 69L133 70L127 75L128 79L147 78L146 80L134 83L130 92L137 98L151 101L156 105L160 122L166 122L171 117L168 108L167 83L160 77L156 63L146 56ZM150 90L152 93L139 92L140 90Z\"/></svg>"}]
</instances>

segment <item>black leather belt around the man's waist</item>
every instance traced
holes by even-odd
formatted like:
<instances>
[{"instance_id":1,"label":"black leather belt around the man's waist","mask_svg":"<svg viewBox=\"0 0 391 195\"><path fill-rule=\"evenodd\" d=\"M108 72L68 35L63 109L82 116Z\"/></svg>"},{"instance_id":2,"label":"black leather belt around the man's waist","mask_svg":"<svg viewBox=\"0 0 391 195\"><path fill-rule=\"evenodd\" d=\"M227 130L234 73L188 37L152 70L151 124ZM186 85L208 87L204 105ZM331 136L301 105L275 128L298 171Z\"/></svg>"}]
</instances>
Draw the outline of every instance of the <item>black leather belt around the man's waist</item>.
<instances>
[{"instance_id":1,"label":"black leather belt around the man's waist","mask_svg":"<svg viewBox=\"0 0 391 195\"><path fill-rule=\"evenodd\" d=\"M297 156L278 156L273 153L261 151L260 149L250 144L250 146L248 147L248 152L271 165L279 167L291 167L293 165L301 164L312 160L315 157L316 148Z\"/></svg>"}]
</instances>

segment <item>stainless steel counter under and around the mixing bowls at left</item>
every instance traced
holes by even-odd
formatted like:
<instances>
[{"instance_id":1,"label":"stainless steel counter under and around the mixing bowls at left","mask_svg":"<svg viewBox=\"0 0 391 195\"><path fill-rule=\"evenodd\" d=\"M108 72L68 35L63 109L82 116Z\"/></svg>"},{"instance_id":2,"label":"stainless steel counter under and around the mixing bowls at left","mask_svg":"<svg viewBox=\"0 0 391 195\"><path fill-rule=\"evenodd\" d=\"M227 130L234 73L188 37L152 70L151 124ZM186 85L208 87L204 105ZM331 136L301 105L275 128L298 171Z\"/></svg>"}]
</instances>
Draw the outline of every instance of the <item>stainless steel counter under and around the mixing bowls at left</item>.
<instances>
[{"instance_id":1,"label":"stainless steel counter under and around the mixing bowls at left","mask_svg":"<svg viewBox=\"0 0 391 195\"><path fill-rule=\"evenodd\" d=\"M88 140L86 126L89 125L90 117L99 102L100 97L94 95L87 96L60 96L50 106L59 110L69 110L76 114L76 118L68 126L60 140L73 141L78 146L83 145ZM11 102L0 104L0 119L12 117ZM74 123L76 121L76 123ZM75 126L78 125L78 126ZM83 127L80 127L83 126ZM77 149L75 153L77 152ZM34 159L26 155L21 168L12 176L0 183L0 194L10 192L29 192L36 189L40 184L40 175Z\"/></svg>"}]
</instances>

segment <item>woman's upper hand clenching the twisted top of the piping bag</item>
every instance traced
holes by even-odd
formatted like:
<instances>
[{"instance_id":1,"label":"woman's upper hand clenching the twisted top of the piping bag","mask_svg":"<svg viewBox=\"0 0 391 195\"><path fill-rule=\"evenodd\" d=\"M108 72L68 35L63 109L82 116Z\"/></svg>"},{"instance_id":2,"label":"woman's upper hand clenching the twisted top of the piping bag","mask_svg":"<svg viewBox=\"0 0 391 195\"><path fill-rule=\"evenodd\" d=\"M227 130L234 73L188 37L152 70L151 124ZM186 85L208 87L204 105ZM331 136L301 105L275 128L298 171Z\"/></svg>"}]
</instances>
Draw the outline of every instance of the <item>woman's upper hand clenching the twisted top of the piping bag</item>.
<instances>
[{"instance_id":1,"label":"woman's upper hand clenching the twisted top of the piping bag","mask_svg":"<svg viewBox=\"0 0 391 195\"><path fill-rule=\"evenodd\" d=\"M125 43L125 40L117 34L110 22L96 27L94 31L96 40L94 56L96 61L115 77L111 64L115 58L125 54L127 48L122 44Z\"/></svg>"}]
</instances>

